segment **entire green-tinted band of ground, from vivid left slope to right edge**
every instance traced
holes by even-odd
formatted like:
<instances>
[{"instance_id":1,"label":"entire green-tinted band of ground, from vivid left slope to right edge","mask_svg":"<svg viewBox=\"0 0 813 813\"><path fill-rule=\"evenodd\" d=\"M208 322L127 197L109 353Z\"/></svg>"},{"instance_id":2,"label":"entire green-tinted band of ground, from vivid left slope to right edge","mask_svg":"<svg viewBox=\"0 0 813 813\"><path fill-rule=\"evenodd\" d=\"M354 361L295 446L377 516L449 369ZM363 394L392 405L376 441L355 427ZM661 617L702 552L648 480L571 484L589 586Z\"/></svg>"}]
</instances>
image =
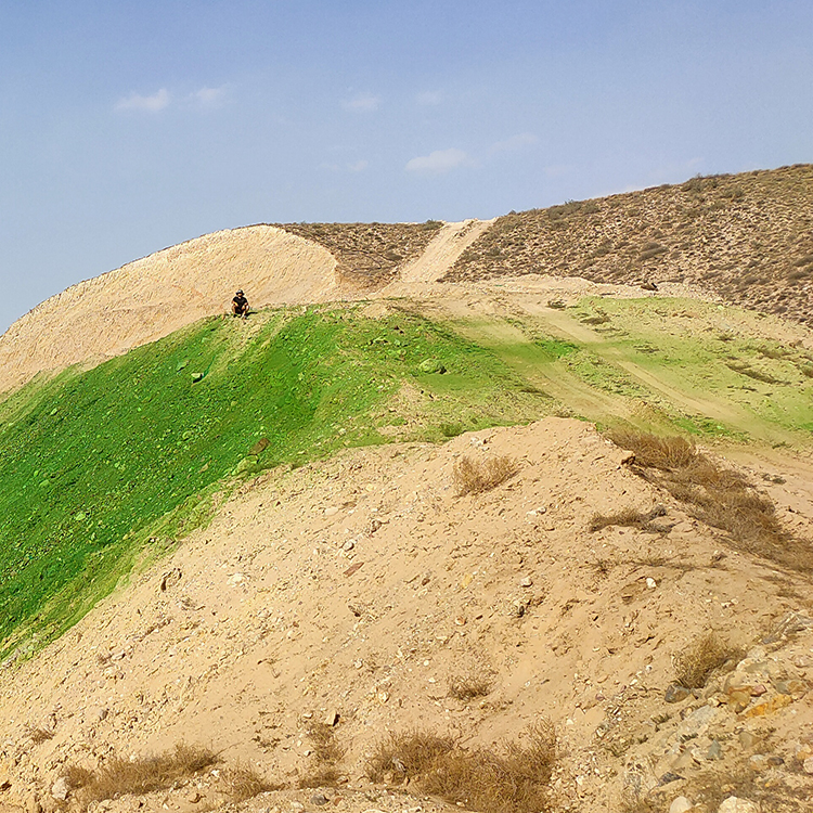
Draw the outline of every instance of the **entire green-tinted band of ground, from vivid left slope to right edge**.
<instances>
[{"instance_id":1,"label":"entire green-tinted band of ground, from vivid left slope to right edge","mask_svg":"<svg viewBox=\"0 0 813 813\"><path fill-rule=\"evenodd\" d=\"M809 444L813 353L788 330L668 298L447 325L325 306L205 320L35 379L0 403L0 658L59 635L243 478L344 447L551 413Z\"/></svg>"}]
</instances>

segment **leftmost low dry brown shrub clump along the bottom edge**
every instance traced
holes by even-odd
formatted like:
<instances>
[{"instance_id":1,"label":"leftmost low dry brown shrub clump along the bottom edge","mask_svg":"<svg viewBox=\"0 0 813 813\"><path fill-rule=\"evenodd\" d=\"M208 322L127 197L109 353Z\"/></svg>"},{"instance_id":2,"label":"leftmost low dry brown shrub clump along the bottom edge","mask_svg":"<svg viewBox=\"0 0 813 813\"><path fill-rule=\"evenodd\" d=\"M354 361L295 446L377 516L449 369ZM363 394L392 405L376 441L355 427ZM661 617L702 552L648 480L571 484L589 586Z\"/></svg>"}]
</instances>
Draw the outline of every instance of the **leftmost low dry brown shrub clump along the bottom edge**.
<instances>
[{"instance_id":1,"label":"leftmost low dry brown shrub clump along the bottom edge","mask_svg":"<svg viewBox=\"0 0 813 813\"><path fill-rule=\"evenodd\" d=\"M169 788L179 779L193 776L220 758L203 746L179 743L171 751L126 760L114 757L96 771L70 765L65 778L73 788L80 789L77 798L85 805L116 795L149 793Z\"/></svg>"}]
</instances>

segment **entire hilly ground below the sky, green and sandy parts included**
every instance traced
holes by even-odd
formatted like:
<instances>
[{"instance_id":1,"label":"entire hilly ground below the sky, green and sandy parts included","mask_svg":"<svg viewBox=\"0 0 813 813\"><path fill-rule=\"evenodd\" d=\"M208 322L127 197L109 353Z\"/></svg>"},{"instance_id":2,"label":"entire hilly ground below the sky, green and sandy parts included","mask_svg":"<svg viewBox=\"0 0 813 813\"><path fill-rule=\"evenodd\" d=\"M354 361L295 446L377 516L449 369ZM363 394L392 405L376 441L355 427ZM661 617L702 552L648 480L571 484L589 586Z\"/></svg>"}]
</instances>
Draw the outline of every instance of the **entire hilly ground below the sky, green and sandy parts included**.
<instances>
[{"instance_id":1,"label":"entire hilly ground below the sky, green and sandy parts included","mask_svg":"<svg viewBox=\"0 0 813 813\"><path fill-rule=\"evenodd\" d=\"M805 811L811 177L246 227L20 320L0 811Z\"/></svg>"}]
</instances>

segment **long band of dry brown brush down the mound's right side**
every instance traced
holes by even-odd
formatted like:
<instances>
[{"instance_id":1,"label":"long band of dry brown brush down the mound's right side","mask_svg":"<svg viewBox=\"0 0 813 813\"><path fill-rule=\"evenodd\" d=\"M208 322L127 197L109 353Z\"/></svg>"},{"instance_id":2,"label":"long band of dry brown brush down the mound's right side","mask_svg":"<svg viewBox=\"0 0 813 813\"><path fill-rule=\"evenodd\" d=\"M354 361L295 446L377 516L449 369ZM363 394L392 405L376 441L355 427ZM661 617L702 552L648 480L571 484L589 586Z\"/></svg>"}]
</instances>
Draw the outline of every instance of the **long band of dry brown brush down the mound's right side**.
<instances>
[{"instance_id":1,"label":"long band of dry brown brush down the mound's right side","mask_svg":"<svg viewBox=\"0 0 813 813\"><path fill-rule=\"evenodd\" d=\"M813 544L786 531L773 502L737 472L721 468L683 438L617 430L610 439L634 452L632 470L686 503L697 519L727 531L734 547L801 572L813 570Z\"/></svg>"}]
</instances>

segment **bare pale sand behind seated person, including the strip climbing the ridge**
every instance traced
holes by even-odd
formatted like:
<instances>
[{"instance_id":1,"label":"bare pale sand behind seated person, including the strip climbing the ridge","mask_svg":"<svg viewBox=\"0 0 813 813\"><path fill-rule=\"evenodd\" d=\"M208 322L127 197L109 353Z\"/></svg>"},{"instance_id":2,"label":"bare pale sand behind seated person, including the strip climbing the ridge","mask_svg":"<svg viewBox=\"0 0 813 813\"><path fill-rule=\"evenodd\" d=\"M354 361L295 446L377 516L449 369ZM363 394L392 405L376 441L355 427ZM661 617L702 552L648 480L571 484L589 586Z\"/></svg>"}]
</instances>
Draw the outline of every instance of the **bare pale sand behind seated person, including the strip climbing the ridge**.
<instances>
[{"instance_id":1,"label":"bare pale sand behind seated person, including the strip climbing the ridge","mask_svg":"<svg viewBox=\"0 0 813 813\"><path fill-rule=\"evenodd\" d=\"M339 284L336 259L322 246L270 225L207 234L73 285L38 305L0 336L0 393L37 373L93 364L155 341L231 308L238 287L255 308L360 297L466 297L469 292L533 294L575 301L584 294L641 296L631 285L527 275L480 284L440 279L492 223L446 223L424 254L378 293ZM674 291L673 291L674 289ZM706 296L686 286L662 293Z\"/></svg>"}]
</instances>

